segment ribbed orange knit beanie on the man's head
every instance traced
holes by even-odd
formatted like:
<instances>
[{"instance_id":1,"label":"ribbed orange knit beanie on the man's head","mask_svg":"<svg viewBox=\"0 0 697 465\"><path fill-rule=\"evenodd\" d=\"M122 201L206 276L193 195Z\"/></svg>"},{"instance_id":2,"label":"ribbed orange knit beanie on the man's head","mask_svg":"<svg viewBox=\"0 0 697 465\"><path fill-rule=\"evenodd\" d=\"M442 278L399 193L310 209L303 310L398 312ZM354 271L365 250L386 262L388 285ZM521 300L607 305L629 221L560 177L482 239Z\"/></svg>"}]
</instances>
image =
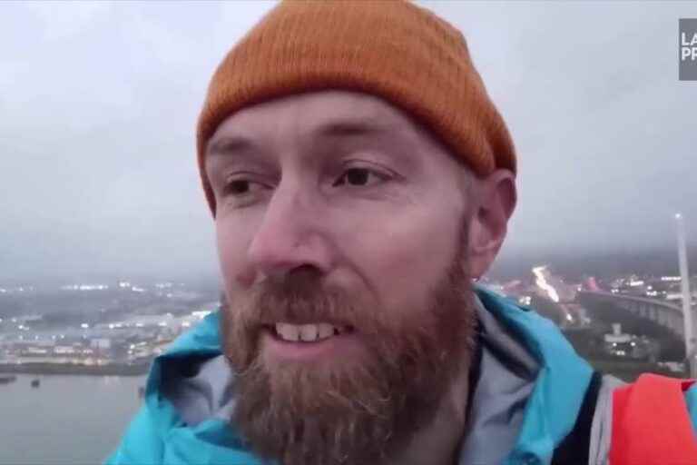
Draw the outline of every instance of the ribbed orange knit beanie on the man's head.
<instances>
[{"instance_id":1,"label":"ribbed orange knit beanie on the man's head","mask_svg":"<svg viewBox=\"0 0 697 465\"><path fill-rule=\"evenodd\" d=\"M201 181L219 124L251 104L322 89L378 95L425 124L476 173L515 172L515 150L469 57L465 38L404 0L285 0L223 59L197 134Z\"/></svg>"}]
</instances>

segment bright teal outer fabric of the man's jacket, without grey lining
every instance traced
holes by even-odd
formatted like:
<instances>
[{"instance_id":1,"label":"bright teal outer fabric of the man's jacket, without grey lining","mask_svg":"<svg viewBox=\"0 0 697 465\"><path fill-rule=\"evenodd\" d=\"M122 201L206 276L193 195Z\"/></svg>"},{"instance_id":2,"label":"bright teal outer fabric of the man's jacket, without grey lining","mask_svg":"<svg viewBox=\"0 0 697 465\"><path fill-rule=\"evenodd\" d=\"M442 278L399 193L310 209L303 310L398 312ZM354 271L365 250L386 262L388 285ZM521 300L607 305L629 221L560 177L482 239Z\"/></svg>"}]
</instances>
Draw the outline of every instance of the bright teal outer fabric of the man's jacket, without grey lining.
<instances>
[{"instance_id":1,"label":"bright teal outer fabric of the man's jacket, without grey lining","mask_svg":"<svg viewBox=\"0 0 697 465\"><path fill-rule=\"evenodd\" d=\"M503 463L547 464L555 447L574 427L593 369L575 353L554 323L496 293L482 288L476 292L486 311L522 342L539 365L517 439ZM107 464L265 463L246 447L233 425L211 419L190 426L162 395L163 364L221 354L218 324L219 314L211 313L153 362L142 408ZM686 393L686 403L692 422L697 423L697 389Z\"/></svg>"}]
</instances>

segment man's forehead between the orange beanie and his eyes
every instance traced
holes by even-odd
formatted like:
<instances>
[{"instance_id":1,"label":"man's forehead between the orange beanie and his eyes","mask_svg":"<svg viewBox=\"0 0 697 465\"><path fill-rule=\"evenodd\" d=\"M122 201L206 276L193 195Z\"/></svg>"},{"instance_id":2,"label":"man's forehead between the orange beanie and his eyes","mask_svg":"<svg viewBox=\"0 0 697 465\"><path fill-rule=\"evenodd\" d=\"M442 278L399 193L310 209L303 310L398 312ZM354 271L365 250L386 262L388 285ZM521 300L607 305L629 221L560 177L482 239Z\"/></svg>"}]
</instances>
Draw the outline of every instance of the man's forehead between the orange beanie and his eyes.
<instances>
[{"instance_id":1,"label":"man's forehead between the orange beanie and his eyes","mask_svg":"<svg viewBox=\"0 0 697 465\"><path fill-rule=\"evenodd\" d=\"M283 135L394 135L430 139L406 113L379 97L348 91L297 94L256 104L229 116L208 143L236 138L268 140Z\"/></svg>"}]
</instances>

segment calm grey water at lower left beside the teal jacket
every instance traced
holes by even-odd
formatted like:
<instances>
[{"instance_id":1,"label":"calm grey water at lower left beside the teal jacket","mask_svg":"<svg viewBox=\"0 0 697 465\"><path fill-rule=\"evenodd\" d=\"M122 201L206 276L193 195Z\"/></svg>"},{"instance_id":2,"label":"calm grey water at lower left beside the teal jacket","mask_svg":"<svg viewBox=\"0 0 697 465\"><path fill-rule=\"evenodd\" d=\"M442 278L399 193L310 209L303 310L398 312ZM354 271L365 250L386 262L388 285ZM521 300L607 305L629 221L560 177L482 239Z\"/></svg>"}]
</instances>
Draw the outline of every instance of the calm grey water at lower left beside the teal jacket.
<instances>
[{"instance_id":1,"label":"calm grey water at lower left beside the teal jacket","mask_svg":"<svg viewBox=\"0 0 697 465\"><path fill-rule=\"evenodd\" d=\"M138 411L144 384L144 376L76 375L0 384L0 465L101 463Z\"/></svg>"}]
</instances>

